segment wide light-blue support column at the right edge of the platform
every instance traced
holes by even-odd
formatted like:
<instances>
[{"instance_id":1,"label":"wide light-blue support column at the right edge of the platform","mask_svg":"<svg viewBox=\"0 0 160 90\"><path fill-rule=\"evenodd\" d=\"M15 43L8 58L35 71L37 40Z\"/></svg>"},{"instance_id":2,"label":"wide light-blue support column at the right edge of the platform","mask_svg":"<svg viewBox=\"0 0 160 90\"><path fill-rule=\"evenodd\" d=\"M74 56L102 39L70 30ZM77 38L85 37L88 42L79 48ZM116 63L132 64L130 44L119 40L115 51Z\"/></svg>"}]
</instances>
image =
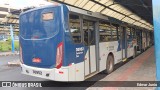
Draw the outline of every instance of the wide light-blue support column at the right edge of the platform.
<instances>
[{"instance_id":1,"label":"wide light-blue support column at the right edge of the platform","mask_svg":"<svg viewBox=\"0 0 160 90\"><path fill-rule=\"evenodd\" d=\"M156 77L160 81L160 1L152 0L153 22L154 22L154 41L155 41L155 59L156 59ZM160 87L157 88L160 90Z\"/></svg>"}]
</instances>

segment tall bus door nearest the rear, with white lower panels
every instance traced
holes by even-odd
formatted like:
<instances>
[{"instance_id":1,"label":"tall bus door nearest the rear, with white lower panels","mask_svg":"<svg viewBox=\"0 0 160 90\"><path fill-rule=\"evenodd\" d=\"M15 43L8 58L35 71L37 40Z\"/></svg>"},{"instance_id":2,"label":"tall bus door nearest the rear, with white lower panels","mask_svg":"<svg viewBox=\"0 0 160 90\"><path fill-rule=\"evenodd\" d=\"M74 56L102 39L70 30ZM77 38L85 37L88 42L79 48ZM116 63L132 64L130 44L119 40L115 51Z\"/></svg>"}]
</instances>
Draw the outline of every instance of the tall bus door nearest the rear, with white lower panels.
<instances>
[{"instance_id":1,"label":"tall bus door nearest the rear, with white lower panels","mask_svg":"<svg viewBox=\"0 0 160 90\"><path fill-rule=\"evenodd\" d=\"M96 67L96 40L95 22L83 20L84 45L85 45L85 76L97 71Z\"/></svg>"}]
</instances>

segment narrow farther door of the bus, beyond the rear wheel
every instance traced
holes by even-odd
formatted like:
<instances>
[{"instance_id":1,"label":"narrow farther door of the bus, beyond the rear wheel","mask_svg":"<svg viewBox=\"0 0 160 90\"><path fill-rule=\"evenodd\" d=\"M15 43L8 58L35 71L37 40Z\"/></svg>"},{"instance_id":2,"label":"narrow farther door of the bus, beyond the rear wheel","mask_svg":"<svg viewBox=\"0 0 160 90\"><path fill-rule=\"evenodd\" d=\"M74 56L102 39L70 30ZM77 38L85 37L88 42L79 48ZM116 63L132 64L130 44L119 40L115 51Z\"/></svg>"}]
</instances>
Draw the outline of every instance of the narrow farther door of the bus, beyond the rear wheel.
<instances>
[{"instance_id":1,"label":"narrow farther door of the bus, beyond the rear wheel","mask_svg":"<svg viewBox=\"0 0 160 90\"><path fill-rule=\"evenodd\" d=\"M127 34L125 27L121 27L121 30L122 60L125 61L127 59Z\"/></svg>"}]
</instances>

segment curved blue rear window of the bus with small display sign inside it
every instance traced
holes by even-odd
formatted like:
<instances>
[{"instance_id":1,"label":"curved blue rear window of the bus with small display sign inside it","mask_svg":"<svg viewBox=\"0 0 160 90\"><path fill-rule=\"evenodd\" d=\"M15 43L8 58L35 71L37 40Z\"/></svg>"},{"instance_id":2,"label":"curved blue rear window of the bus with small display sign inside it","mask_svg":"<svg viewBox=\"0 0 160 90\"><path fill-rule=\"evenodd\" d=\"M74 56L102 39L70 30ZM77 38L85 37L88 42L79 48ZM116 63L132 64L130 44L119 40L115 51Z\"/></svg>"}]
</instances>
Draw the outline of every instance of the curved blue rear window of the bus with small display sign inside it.
<instances>
[{"instance_id":1,"label":"curved blue rear window of the bus with small display sign inside it","mask_svg":"<svg viewBox=\"0 0 160 90\"><path fill-rule=\"evenodd\" d=\"M60 23L60 16L58 7L37 9L21 15L21 37L24 39L53 37L59 30L56 26Z\"/></svg>"}]
</instances>

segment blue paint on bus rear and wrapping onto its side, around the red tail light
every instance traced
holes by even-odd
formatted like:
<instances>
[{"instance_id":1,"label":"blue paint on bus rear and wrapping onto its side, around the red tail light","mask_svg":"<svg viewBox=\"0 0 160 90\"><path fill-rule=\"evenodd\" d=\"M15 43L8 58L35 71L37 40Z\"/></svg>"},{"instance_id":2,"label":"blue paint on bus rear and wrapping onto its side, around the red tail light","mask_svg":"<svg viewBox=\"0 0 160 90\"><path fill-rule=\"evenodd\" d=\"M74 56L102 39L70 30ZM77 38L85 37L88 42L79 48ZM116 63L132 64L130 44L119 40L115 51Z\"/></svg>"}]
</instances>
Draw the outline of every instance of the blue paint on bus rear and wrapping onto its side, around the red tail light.
<instances>
[{"instance_id":1,"label":"blue paint on bus rear and wrapping onto its side, around the red tail light","mask_svg":"<svg viewBox=\"0 0 160 90\"><path fill-rule=\"evenodd\" d=\"M45 13L53 13L54 18L43 20L42 15ZM24 64L40 68L55 68L57 46L60 42L64 42L62 66L84 60L88 48L82 43L75 44L72 41L68 14L68 8L60 5L33 9L20 15L20 45ZM81 47L84 48L83 53L76 57L76 48ZM33 58L40 58L41 63L32 62Z\"/></svg>"}]
</instances>

